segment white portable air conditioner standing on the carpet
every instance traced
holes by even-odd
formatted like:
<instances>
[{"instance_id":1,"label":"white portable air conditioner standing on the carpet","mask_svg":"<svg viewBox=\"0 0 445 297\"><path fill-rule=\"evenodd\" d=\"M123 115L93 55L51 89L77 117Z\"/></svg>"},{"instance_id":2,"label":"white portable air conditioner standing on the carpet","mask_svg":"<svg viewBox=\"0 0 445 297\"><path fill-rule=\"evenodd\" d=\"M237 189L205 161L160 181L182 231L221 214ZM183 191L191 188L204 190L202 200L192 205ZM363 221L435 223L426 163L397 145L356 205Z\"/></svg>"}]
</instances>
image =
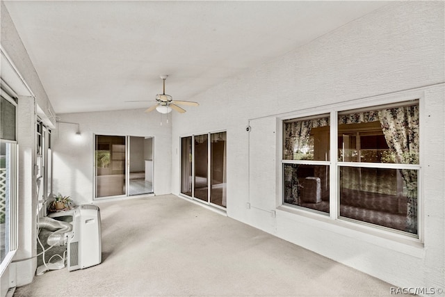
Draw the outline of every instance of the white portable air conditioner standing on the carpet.
<instances>
[{"instance_id":1,"label":"white portable air conditioner standing on the carpet","mask_svg":"<svg viewBox=\"0 0 445 297\"><path fill-rule=\"evenodd\" d=\"M68 234L68 271L83 269L102 262L99 207L81 205L74 209L73 229Z\"/></svg>"}]
</instances>

